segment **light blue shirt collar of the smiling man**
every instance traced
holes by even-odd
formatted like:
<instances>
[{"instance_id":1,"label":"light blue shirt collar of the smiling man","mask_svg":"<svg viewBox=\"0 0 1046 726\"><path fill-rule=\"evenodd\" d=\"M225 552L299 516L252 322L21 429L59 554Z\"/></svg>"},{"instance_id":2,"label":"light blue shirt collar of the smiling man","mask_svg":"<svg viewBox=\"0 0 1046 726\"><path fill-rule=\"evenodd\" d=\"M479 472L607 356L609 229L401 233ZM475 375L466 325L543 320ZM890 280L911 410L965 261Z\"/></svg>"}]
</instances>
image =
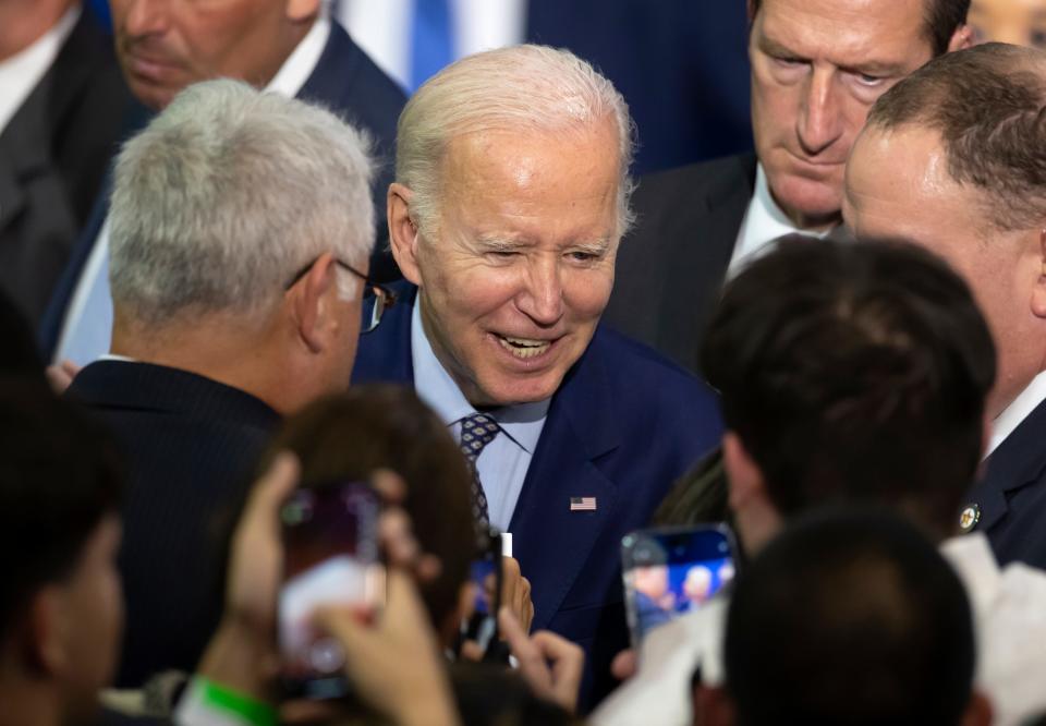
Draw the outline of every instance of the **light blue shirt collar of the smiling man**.
<instances>
[{"instance_id":1,"label":"light blue shirt collar of the smiling man","mask_svg":"<svg viewBox=\"0 0 1046 726\"><path fill-rule=\"evenodd\" d=\"M414 363L414 388L442 422L450 426L476 409L469 402L461 388L436 358L428 336L422 326L422 297L418 294L411 314L411 359ZM550 399L533 403L506 406L485 411L501 429L527 453L534 453L542 437Z\"/></svg>"}]
</instances>

